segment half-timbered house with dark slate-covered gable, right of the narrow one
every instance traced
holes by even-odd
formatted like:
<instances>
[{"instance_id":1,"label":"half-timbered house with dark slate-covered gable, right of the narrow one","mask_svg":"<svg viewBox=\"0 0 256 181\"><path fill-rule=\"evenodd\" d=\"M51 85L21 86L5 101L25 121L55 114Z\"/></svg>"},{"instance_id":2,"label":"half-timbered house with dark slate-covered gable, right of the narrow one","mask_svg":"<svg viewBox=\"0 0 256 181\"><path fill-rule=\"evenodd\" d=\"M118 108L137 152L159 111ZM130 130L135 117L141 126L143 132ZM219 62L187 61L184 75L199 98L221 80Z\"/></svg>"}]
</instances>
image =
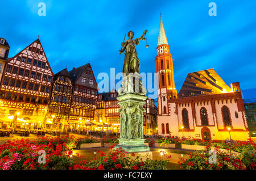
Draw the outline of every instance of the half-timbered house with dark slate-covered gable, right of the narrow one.
<instances>
[{"instance_id":1,"label":"half-timbered house with dark slate-covered gable, right of the narrow one","mask_svg":"<svg viewBox=\"0 0 256 181\"><path fill-rule=\"evenodd\" d=\"M90 64L69 71L73 82L73 98L70 110L70 123L85 123L93 120L98 96L97 82ZM75 125L76 127L76 125Z\"/></svg>"}]
</instances>

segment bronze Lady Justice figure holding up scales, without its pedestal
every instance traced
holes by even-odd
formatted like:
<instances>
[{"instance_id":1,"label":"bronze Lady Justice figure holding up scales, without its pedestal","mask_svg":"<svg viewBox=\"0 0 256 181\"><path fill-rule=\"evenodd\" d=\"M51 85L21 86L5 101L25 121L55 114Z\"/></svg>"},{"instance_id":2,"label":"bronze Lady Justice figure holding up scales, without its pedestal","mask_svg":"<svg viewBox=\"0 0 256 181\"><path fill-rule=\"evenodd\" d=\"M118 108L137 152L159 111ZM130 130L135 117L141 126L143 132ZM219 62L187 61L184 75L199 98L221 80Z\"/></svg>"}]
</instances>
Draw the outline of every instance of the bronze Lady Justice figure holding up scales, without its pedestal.
<instances>
[{"instance_id":1,"label":"bronze Lady Justice figure holding up scales, without its pedestal","mask_svg":"<svg viewBox=\"0 0 256 181\"><path fill-rule=\"evenodd\" d=\"M134 32L129 31L127 35L129 39L126 42L121 43L122 49L119 50L119 56L122 52L125 51L125 62L123 64L123 73L139 73L139 67L141 66L141 62L139 62L139 58L137 56L137 52L135 49L135 44L139 44L139 40L145 40L144 36L146 35L147 30L145 30L141 37L133 40Z\"/></svg>"}]
</instances>

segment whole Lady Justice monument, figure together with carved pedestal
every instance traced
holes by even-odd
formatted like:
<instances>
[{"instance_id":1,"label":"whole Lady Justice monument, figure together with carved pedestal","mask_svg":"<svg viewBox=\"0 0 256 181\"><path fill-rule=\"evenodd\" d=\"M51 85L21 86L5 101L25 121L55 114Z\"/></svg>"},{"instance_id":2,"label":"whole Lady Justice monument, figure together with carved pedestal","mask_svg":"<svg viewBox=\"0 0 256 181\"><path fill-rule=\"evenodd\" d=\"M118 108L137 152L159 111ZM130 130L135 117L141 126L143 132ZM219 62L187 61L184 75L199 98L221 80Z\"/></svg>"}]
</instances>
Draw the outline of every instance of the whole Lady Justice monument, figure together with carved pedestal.
<instances>
[{"instance_id":1,"label":"whole Lady Justice monument, figure together with carved pedestal","mask_svg":"<svg viewBox=\"0 0 256 181\"><path fill-rule=\"evenodd\" d=\"M145 30L141 37L133 39L134 32L129 31L129 39L123 43L119 55L125 52L125 62L123 64L123 81L118 90L120 105L120 138L119 144L115 149L122 147L127 153L138 153L139 155L149 155L152 153L148 146L144 145L143 138L143 104L147 99L146 88L142 85L141 76L139 75L140 61L137 56L135 44L138 45L140 40L146 40ZM146 48L148 44L146 42Z\"/></svg>"}]
</instances>

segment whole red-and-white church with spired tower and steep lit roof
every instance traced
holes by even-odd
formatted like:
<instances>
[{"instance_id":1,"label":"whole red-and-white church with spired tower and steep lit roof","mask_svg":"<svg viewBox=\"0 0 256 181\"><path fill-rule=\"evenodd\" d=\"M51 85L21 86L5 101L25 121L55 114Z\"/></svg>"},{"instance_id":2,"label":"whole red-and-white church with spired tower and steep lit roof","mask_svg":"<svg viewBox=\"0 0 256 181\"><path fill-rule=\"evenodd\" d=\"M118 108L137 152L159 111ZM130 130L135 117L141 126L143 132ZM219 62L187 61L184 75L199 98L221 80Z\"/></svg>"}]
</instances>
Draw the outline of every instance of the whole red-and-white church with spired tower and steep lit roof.
<instances>
[{"instance_id":1,"label":"whole red-and-white church with spired tower and steep lit roof","mask_svg":"<svg viewBox=\"0 0 256 181\"><path fill-rule=\"evenodd\" d=\"M239 82L229 87L214 69L201 70L189 73L177 94L162 18L156 50L158 134L201 140L250 138Z\"/></svg>"}]
</instances>

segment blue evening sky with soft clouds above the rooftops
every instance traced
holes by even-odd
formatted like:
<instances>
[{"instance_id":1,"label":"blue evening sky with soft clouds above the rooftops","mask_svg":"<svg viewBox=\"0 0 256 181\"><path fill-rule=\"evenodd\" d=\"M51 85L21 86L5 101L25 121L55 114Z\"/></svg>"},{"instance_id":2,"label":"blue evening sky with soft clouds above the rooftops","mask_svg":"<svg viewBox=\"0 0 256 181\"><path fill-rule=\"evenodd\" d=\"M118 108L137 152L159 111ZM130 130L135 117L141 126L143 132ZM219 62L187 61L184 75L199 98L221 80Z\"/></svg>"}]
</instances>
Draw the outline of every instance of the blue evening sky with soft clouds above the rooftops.
<instances>
[{"instance_id":1,"label":"blue evening sky with soft clouds above the rooftops","mask_svg":"<svg viewBox=\"0 0 256 181\"><path fill-rule=\"evenodd\" d=\"M46 3L46 16L38 3ZM210 2L217 16L209 16ZM2 0L0 37L10 44L13 57L40 35L53 73L88 63L94 75L122 71L118 50L126 32L134 37L148 30L137 46L141 72L155 72L160 12L174 58L179 91L188 73L214 68L230 86L241 89L256 83L256 1L60 1ZM127 36L126 36L127 37ZM110 77L110 75L109 75ZM98 81L99 82L99 81Z\"/></svg>"}]
</instances>

